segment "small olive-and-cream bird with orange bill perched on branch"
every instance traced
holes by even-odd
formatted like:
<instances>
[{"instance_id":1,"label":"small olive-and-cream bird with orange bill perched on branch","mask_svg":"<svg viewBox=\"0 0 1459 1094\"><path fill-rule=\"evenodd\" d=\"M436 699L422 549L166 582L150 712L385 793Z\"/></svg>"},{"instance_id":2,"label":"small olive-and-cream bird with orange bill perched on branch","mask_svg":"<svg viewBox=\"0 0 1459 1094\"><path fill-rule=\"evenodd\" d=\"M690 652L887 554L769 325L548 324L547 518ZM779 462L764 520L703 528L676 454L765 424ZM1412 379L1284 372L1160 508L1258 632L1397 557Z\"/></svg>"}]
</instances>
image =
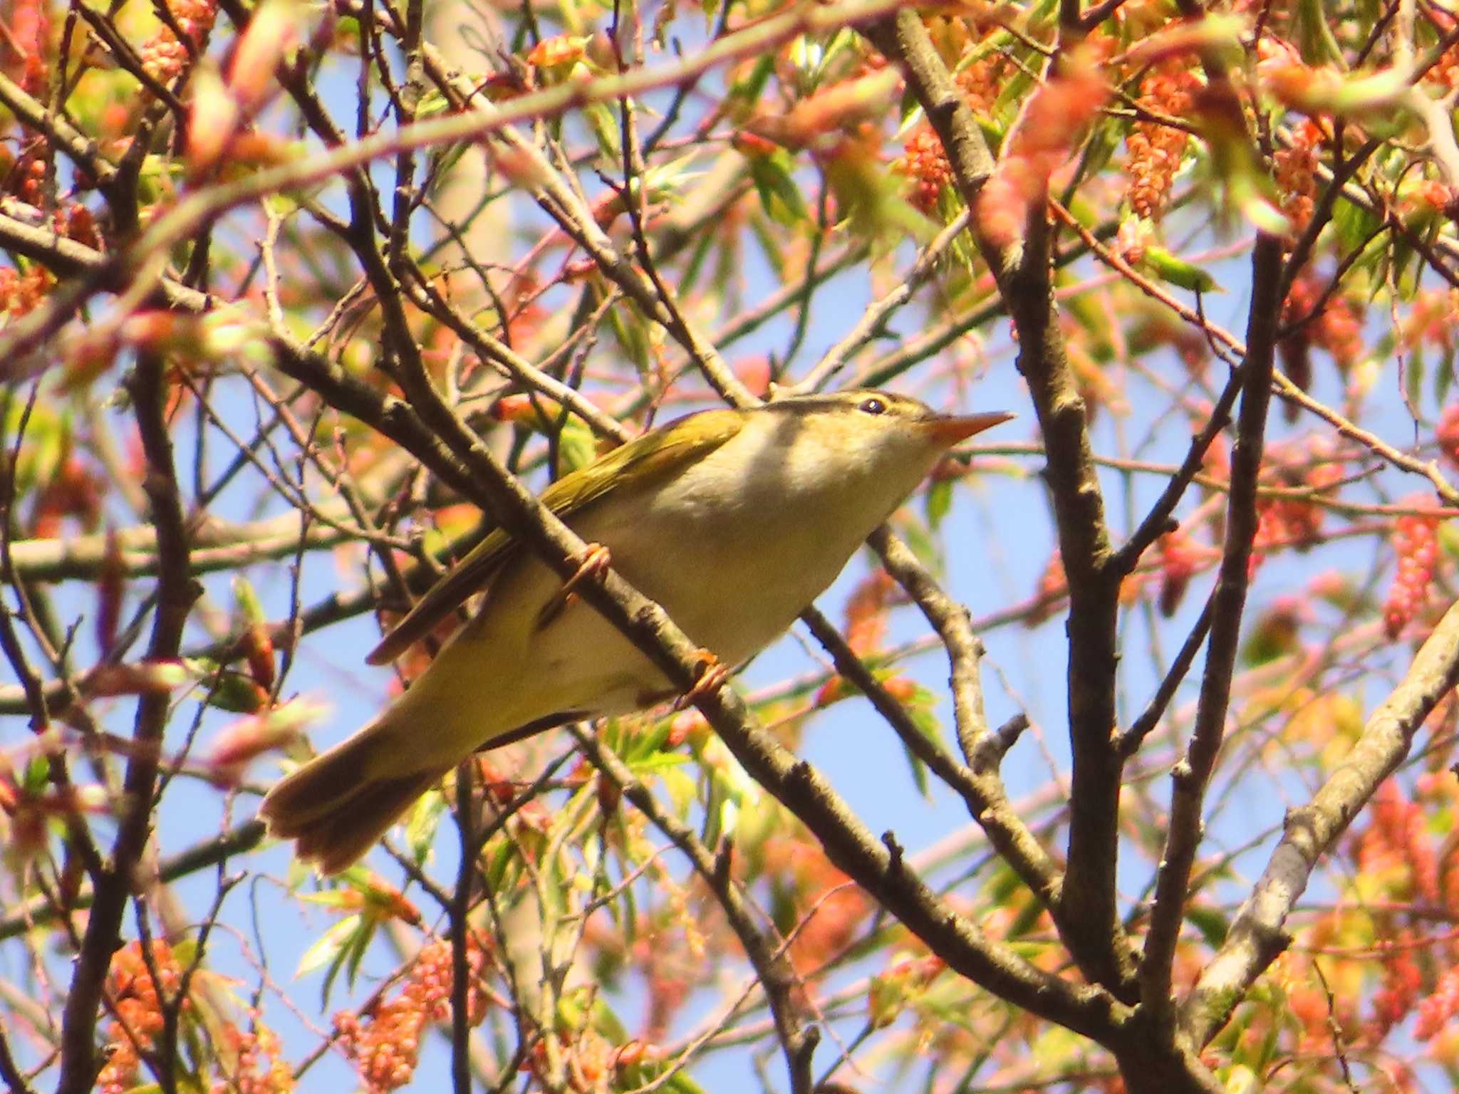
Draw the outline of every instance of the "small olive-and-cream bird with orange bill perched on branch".
<instances>
[{"instance_id":1,"label":"small olive-and-cream bird with orange bill perched on branch","mask_svg":"<svg viewBox=\"0 0 1459 1094\"><path fill-rule=\"evenodd\" d=\"M579 575L611 565L731 667L830 586L948 448L1011 417L944 414L874 389L702 410L563 476L540 500L589 546ZM474 614L374 721L268 791L270 834L337 874L473 753L673 697L572 581L490 532L366 661L390 664L484 591Z\"/></svg>"}]
</instances>

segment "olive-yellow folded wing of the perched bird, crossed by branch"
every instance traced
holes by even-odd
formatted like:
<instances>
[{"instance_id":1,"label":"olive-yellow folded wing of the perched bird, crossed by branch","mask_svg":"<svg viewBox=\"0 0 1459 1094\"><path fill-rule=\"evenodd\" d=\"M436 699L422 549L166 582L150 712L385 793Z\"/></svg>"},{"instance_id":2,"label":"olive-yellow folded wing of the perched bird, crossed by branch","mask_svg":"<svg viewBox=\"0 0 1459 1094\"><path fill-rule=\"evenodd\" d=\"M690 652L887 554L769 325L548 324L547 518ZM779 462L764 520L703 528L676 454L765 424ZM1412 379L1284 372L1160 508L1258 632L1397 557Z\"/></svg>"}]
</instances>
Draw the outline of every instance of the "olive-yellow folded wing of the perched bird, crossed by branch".
<instances>
[{"instance_id":1,"label":"olive-yellow folded wing of the perched bird, crossed by branch","mask_svg":"<svg viewBox=\"0 0 1459 1094\"><path fill-rule=\"evenodd\" d=\"M694 419L694 429L681 429L690 419ZM741 416L732 410L706 410L678 419L662 430L645 433L563 476L543 492L540 500L565 521L603 497L623 474L633 473L635 489L651 487L703 459L738 433L741 424ZM468 597L483 589L519 550L521 546L505 529L493 531L430 586L365 661L371 665L388 665L398 658Z\"/></svg>"}]
</instances>

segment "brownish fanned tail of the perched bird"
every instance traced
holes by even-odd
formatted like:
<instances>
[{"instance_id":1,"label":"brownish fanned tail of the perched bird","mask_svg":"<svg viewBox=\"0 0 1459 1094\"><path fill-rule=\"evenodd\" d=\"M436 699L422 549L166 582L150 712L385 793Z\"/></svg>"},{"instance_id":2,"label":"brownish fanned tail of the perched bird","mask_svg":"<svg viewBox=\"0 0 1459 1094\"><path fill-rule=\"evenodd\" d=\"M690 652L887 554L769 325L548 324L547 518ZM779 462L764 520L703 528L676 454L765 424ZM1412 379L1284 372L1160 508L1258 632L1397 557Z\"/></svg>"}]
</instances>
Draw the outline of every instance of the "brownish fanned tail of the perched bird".
<instances>
[{"instance_id":1,"label":"brownish fanned tail of the perched bird","mask_svg":"<svg viewBox=\"0 0 1459 1094\"><path fill-rule=\"evenodd\" d=\"M409 756L400 740L400 723L381 719L280 779L258 808L268 833L296 840L299 858L325 874L349 866L451 770L398 770Z\"/></svg>"}]
</instances>

